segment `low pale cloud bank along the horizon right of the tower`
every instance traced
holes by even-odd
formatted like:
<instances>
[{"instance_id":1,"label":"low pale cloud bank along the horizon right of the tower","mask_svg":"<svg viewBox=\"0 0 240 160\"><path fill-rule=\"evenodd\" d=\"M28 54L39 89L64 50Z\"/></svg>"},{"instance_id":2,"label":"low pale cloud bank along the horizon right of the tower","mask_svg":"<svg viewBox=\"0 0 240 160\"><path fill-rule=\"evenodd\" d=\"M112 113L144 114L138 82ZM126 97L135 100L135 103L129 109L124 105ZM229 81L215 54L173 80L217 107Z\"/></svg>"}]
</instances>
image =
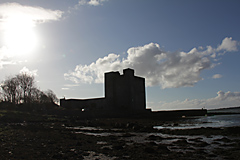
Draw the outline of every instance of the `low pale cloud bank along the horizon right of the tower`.
<instances>
[{"instance_id":1,"label":"low pale cloud bank along the horizon right of the tower","mask_svg":"<svg viewBox=\"0 0 240 160\"><path fill-rule=\"evenodd\" d=\"M240 92L218 91L217 96L209 99L186 99L184 101L147 103L152 110L178 110L178 109L217 109L240 106Z\"/></svg>"}]
</instances>

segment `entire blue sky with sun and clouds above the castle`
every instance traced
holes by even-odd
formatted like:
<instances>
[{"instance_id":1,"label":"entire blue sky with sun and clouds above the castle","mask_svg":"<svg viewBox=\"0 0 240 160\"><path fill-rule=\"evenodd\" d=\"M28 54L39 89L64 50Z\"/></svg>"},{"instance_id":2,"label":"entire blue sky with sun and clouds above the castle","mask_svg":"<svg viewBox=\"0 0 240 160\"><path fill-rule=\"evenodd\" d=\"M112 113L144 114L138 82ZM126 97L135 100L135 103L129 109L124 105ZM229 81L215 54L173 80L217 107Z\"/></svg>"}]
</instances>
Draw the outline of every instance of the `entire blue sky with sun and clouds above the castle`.
<instances>
[{"instance_id":1,"label":"entire blue sky with sun and clouds above the castle","mask_svg":"<svg viewBox=\"0 0 240 160\"><path fill-rule=\"evenodd\" d=\"M0 81L104 97L104 73L146 81L147 108L240 106L237 0L1 0Z\"/></svg>"}]
</instances>

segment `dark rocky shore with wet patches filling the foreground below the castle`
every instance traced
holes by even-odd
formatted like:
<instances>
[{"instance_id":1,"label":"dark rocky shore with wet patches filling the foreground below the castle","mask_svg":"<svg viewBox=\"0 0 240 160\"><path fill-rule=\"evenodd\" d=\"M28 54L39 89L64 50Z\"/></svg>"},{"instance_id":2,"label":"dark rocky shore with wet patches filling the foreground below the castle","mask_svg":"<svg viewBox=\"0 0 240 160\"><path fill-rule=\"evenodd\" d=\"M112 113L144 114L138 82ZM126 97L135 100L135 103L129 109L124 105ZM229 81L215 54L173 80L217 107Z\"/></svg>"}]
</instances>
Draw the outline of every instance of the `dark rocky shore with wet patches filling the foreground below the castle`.
<instances>
[{"instance_id":1,"label":"dark rocky shore with wet patches filling the foreground below the castle","mask_svg":"<svg viewBox=\"0 0 240 160\"><path fill-rule=\"evenodd\" d=\"M156 130L184 120L0 110L0 159L240 159L240 127Z\"/></svg>"}]
</instances>

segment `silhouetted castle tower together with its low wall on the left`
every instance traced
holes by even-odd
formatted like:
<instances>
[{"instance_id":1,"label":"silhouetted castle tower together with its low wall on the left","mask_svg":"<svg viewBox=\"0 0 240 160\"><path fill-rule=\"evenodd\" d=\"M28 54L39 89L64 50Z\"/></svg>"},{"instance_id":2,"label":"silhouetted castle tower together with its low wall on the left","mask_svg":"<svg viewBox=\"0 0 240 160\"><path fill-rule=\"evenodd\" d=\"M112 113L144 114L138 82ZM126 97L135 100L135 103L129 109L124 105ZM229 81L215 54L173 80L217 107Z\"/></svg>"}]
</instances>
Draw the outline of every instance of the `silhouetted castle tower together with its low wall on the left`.
<instances>
[{"instance_id":1,"label":"silhouetted castle tower together with its low wall on the left","mask_svg":"<svg viewBox=\"0 0 240 160\"><path fill-rule=\"evenodd\" d=\"M145 79L133 69L105 73L105 97L94 99L61 99L60 106L104 115L141 114L147 111Z\"/></svg>"}]
</instances>

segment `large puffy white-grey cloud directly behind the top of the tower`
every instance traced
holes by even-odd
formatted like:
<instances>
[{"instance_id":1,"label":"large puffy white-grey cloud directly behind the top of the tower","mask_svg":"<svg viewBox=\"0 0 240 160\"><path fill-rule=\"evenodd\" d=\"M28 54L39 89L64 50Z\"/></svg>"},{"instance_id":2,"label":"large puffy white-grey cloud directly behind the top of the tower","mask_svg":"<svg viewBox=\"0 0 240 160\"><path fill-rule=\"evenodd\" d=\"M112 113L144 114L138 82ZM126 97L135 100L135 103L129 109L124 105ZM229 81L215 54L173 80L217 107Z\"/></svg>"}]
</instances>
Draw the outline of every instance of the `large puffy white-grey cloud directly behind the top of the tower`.
<instances>
[{"instance_id":1,"label":"large puffy white-grey cloud directly behind the top of the tower","mask_svg":"<svg viewBox=\"0 0 240 160\"><path fill-rule=\"evenodd\" d=\"M234 45L232 47L235 48ZM166 52L158 44L149 43L129 48L127 58L111 53L90 65L79 64L74 71L69 71L64 76L75 83L103 83L104 72L133 68L136 75L146 78L147 86L193 86L203 79L200 76L201 71L218 65L212 62L212 54L218 52L217 50L207 46L205 50L200 47L200 50L193 48L189 52ZM221 49L226 50L235 51L230 48Z\"/></svg>"}]
</instances>

